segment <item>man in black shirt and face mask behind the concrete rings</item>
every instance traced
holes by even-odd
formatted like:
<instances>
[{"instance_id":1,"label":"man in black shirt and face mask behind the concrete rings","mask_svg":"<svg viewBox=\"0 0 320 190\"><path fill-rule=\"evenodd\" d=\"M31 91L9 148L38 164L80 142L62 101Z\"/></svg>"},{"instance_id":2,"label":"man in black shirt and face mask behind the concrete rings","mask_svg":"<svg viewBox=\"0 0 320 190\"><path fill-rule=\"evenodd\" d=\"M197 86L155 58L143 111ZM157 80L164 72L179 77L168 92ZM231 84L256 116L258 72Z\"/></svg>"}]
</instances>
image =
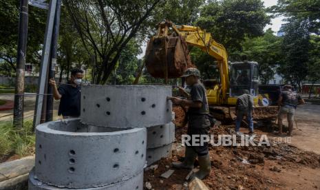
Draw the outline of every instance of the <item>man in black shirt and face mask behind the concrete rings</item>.
<instances>
[{"instance_id":1,"label":"man in black shirt and face mask behind the concrete rings","mask_svg":"<svg viewBox=\"0 0 320 190\"><path fill-rule=\"evenodd\" d=\"M81 80L83 78L83 70L73 69L71 71L70 81L67 84L61 84L56 87L56 81L51 78L49 83L53 87L53 95L55 100L60 100L58 116L63 118L76 118L80 116L80 100L81 100Z\"/></svg>"}]
</instances>

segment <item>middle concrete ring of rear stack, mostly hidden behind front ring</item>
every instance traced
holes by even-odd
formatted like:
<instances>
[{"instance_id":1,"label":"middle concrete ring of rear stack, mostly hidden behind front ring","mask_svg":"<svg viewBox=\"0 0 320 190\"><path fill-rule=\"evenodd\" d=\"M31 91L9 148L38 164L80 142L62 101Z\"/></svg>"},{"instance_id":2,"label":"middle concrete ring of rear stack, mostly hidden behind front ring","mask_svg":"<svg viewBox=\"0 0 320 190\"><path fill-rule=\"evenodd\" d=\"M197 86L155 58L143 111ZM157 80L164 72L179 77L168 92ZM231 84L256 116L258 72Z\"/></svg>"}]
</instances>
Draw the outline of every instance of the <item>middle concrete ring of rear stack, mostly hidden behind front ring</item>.
<instances>
[{"instance_id":1,"label":"middle concrete ring of rear stack, mostly hidden behind front ring","mask_svg":"<svg viewBox=\"0 0 320 190\"><path fill-rule=\"evenodd\" d=\"M166 125L158 125L147 128L147 149L163 147L173 142L175 125L171 122Z\"/></svg>"}]
</instances>

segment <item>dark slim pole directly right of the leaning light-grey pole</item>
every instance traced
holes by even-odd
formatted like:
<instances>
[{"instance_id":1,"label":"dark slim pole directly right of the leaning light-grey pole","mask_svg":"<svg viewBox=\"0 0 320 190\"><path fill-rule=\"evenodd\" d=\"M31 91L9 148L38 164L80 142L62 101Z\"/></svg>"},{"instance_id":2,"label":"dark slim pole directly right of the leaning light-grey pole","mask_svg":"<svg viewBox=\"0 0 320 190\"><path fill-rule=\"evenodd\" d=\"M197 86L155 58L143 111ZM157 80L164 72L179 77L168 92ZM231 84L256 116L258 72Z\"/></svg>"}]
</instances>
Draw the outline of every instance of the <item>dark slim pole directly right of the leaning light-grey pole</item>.
<instances>
[{"instance_id":1,"label":"dark slim pole directly right of the leaning light-grey pole","mask_svg":"<svg viewBox=\"0 0 320 190\"><path fill-rule=\"evenodd\" d=\"M51 60L49 64L49 74L48 80L50 78L55 78L56 76L56 50L58 49L58 35L59 35L59 26L60 26L60 14L61 14L61 0L56 1L56 14L54 16L54 31L52 34L52 43L51 43ZM49 81L48 81L49 82ZM45 121L52 121L53 118L53 103L54 99L52 96L52 86L47 85L47 113L45 115Z\"/></svg>"}]
</instances>

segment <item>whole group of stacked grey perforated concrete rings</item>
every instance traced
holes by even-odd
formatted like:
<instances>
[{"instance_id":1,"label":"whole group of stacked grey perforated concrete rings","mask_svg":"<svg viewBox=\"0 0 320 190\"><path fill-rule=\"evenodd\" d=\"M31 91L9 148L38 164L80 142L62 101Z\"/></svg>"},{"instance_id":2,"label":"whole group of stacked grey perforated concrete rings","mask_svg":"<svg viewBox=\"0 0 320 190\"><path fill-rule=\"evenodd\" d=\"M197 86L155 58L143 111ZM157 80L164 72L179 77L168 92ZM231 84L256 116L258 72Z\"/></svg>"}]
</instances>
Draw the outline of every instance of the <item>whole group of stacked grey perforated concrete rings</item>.
<instances>
[{"instance_id":1,"label":"whole group of stacked grey perforated concrete rings","mask_svg":"<svg viewBox=\"0 0 320 190\"><path fill-rule=\"evenodd\" d=\"M143 189L146 160L171 156L171 87L89 85L81 96L81 118L36 127L29 189Z\"/></svg>"}]
</instances>

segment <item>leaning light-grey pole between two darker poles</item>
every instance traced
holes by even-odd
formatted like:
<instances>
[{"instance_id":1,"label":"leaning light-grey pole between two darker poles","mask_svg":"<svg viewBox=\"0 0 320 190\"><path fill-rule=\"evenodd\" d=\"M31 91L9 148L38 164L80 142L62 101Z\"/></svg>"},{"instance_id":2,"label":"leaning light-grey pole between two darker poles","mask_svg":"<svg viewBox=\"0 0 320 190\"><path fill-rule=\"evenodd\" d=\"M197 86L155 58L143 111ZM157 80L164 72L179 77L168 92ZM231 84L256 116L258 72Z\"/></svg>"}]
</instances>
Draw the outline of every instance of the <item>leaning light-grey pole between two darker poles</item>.
<instances>
[{"instance_id":1,"label":"leaning light-grey pole between two darker poles","mask_svg":"<svg viewBox=\"0 0 320 190\"><path fill-rule=\"evenodd\" d=\"M50 0L49 12L47 13L47 26L45 28L45 40L43 43L41 67L38 83L38 94L36 96L36 107L34 109L33 127L40 124L43 105L43 95L45 94L45 83L47 83L47 68L50 58L52 42L52 30L54 25L54 15L56 14L56 0Z\"/></svg>"}]
</instances>

